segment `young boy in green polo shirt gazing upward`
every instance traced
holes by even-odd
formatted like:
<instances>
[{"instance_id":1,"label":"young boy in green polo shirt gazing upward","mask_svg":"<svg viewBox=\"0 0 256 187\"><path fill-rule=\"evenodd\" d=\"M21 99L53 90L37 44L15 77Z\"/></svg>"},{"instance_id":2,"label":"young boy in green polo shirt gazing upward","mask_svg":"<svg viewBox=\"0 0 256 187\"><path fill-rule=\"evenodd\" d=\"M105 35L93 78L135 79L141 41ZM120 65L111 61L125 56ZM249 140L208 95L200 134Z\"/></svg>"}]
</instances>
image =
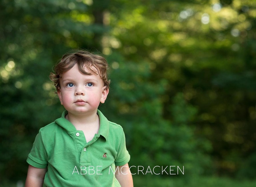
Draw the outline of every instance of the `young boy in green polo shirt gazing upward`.
<instances>
[{"instance_id":1,"label":"young boy in green polo shirt gazing upward","mask_svg":"<svg viewBox=\"0 0 256 187\"><path fill-rule=\"evenodd\" d=\"M102 56L83 50L56 65L50 79L66 110L39 130L26 187L133 186L123 129L98 110L109 92L107 69Z\"/></svg>"}]
</instances>

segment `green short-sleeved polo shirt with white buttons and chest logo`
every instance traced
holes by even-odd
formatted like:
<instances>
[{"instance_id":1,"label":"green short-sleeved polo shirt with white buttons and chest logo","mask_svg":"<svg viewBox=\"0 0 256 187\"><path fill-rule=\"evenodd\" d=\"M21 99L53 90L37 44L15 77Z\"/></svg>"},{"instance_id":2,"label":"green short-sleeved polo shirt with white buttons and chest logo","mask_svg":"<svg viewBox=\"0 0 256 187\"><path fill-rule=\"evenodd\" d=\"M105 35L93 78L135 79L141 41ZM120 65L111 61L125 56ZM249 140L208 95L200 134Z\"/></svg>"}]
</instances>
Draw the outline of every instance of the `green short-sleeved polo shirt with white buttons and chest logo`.
<instances>
[{"instance_id":1,"label":"green short-sleeved polo shirt with white buttons and chest logo","mask_svg":"<svg viewBox=\"0 0 256 187\"><path fill-rule=\"evenodd\" d=\"M27 162L37 168L48 167L44 186L120 186L115 166L130 160L123 128L99 110L97 114L99 133L89 142L83 131L65 119L67 111L39 130Z\"/></svg>"}]
</instances>

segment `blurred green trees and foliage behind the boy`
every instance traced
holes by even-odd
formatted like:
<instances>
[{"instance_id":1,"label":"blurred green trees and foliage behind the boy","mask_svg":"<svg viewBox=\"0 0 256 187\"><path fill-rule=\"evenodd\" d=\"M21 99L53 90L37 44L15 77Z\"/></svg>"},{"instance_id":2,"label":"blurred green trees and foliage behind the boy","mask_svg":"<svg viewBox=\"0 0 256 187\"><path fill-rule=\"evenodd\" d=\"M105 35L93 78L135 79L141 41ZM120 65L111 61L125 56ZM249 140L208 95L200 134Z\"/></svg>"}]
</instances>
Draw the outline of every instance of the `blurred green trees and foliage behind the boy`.
<instances>
[{"instance_id":1,"label":"blurred green trees and foliage behind the boy","mask_svg":"<svg viewBox=\"0 0 256 187\"><path fill-rule=\"evenodd\" d=\"M48 75L78 47L109 62L100 110L124 128L129 165L184 165L177 185L135 185L255 179L255 18L251 0L2 0L0 183L24 182L39 128L63 110Z\"/></svg>"}]
</instances>

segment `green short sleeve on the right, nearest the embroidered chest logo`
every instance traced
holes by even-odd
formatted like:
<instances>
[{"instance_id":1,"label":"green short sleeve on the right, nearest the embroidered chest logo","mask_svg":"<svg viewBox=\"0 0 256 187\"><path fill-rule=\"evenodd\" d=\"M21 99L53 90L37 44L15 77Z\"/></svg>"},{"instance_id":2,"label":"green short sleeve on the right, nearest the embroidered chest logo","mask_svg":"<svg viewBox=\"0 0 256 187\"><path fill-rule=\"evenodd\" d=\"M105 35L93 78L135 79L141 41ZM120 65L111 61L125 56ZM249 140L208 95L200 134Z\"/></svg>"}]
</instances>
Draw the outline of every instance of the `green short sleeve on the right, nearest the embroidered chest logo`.
<instances>
[{"instance_id":1,"label":"green short sleeve on the right, nearest the embroidered chest logo","mask_svg":"<svg viewBox=\"0 0 256 187\"><path fill-rule=\"evenodd\" d=\"M129 160L130 160L130 154L126 149L125 135L124 135L124 132L122 131L122 137L120 140L117 157L115 159L115 165L116 166L124 165L124 164L128 163Z\"/></svg>"}]
</instances>

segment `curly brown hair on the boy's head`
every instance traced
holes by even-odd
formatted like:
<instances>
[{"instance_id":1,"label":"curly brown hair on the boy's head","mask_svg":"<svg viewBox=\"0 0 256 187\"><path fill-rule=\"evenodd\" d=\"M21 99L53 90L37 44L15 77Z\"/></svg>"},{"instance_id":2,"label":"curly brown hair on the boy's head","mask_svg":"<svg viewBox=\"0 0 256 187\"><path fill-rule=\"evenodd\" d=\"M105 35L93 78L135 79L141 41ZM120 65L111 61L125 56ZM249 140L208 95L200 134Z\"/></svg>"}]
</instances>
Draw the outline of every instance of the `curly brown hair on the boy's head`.
<instances>
[{"instance_id":1,"label":"curly brown hair on the boy's head","mask_svg":"<svg viewBox=\"0 0 256 187\"><path fill-rule=\"evenodd\" d=\"M60 90L62 73L70 70L75 64L78 65L79 71L85 75L91 75L90 72L84 70L85 67L93 73L99 74L105 89L109 88L110 80L108 78L108 63L106 59L101 55L77 49L64 54L60 62L53 69L55 73L50 73L50 80L54 82L57 91Z\"/></svg>"}]
</instances>

